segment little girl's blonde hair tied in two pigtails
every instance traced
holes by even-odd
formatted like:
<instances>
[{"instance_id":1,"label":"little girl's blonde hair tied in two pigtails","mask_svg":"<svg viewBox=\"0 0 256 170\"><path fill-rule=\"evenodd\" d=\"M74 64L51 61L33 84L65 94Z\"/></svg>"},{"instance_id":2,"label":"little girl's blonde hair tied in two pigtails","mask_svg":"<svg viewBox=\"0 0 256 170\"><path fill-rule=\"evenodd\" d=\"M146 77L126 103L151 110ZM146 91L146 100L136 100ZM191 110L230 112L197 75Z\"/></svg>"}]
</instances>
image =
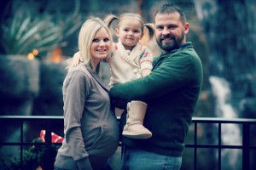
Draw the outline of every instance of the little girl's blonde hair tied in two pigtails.
<instances>
[{"instance_id":1,"label":"little girl's blonde hair tied in two pigtails","mask_svg":"<svg viewBox=\"0 0 256 170\"><path fill-rule=\"evenodd\" d=\"M108 14L108 16L105 18L104 22L107 24L108 28L111 28L113 20L118 20L117 28L119 28L122 20L125 20L126 18L132 18L134 20L138 20L142 26L141 27L142 33L144 32L144 26L145 26L148 28L149 39L152 39L152 37L154 37L154 26L152 24L148 24L148 23L144 24L143 17L140 14L125 13L125 14L121 14L119 17L117 17L114 14Z\"/></svg>"}]
</instances>

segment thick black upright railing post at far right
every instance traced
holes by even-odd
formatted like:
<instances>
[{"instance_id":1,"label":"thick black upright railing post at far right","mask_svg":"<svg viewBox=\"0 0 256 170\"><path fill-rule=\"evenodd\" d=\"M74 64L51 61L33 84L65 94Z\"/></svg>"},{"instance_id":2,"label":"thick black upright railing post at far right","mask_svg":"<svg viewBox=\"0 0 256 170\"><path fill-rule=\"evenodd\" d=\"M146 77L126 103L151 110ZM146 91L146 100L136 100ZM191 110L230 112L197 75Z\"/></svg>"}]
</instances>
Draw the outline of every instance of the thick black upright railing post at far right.
<instances>
[{"instance_id":1,"label":"thick black upright railing post at far right","mask_svg":"<svg viewBox=\"0 0 256 170\"><path fill-rule=\"evenodd\" d=\"M250 124L243 123L242 127L242 169L250 169Z\"/></svg>"}]
</instances>

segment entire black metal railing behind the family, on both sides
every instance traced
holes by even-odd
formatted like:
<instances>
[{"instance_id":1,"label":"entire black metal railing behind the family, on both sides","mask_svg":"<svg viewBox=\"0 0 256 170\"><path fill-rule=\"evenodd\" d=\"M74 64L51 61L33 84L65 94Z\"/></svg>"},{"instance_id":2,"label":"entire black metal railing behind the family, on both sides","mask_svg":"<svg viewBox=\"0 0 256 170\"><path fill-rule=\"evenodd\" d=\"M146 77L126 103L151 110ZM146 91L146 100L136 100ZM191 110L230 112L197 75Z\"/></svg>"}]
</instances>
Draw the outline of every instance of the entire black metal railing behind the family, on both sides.
<instances>
[{"instance_id":1,"label":"entire black metal railing behind the family, on both sides","mask_svg":"<svg viewBox=\"0 0 256 170\"><path fill-rule=\"evenodd\" d=\"M4 123L2 123L4 122ZM46 148L50 148L51 142L51 132L54 131L56 123L60 123L63 126L63 116L0 116L0 123L3 127L4 124L9 124L9 122L19 122L20 126L20 141L19 142L4 142L0 141L0 146L3 145L17 145L20 146L20 150L23 150L25 146L32 146L35 144L44 144ZM33 143L24 142L24 124L25 122L43 122L43 127L46 131L45 133L45 143ZM186 148L194 148L194 169L197 169L197 149L207 148L207 149L218 149L218 169L221 169L221 150L222 149L239 149L242 150L242 169L250 169L250 153L251 150L256 150L256 144L251 144L250 130L253 125L256 125L256 119L241 119L241 118L210 118L210 117L193 117L192 123L194 123L194 144L185 144ZM197 139L197 129L199 123L207 124L217 124L218 126L218 144L198 144ZM222 144L222 125L226 123L240 124L241 125L241 139L242 143L238 145L225 145ZM193 125L192 125L193 126ZM190 132L189 132L190 133ZM58 143L60 145L60 143ZM50 157L52 154L50 150L47 152ZM20 167L22 168L23 162L23 151L20 151ZM47 159L49 160L49 159ZM44 162L45 169L50 169L52 165L50 162Z\"/></svg>"}]
</instances>

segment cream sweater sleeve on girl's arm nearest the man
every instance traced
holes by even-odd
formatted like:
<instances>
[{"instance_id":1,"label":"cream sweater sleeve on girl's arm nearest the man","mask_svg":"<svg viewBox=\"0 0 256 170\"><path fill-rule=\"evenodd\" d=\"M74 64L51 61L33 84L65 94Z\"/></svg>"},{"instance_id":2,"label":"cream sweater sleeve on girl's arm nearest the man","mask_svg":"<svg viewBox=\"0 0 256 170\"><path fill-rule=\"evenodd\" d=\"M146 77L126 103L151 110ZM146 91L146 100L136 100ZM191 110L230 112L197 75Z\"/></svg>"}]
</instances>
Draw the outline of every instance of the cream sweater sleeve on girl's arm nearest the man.
<instances>
[{"instance_id":1,"label":"cream sweater sleeve on girl's arm nearest the man","mask_svg":"<svg viewBox=\"0 0 256 170\"><path fill-rule=\"evenodd\" d=\"M142 54L140 55L140 71L142 77L146 77L152 71L153 55L151 51L145 46L142 47Z\"/></svg>"}]
</instances>

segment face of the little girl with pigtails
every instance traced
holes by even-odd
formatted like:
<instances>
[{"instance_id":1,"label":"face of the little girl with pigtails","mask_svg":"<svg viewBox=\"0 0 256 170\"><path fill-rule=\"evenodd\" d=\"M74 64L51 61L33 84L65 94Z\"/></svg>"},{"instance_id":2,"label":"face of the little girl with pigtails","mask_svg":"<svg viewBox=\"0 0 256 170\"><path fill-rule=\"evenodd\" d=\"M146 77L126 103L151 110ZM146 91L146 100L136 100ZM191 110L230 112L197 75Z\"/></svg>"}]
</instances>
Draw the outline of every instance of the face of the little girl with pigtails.
<instances>
[{"instance_id":1,"label":"face of the little girl with pigtails","mask_svg":"<svg viewBox=\"0 0 256 170\"><path fill-rule=\"evenodd\" d=\"M119 28L116 29L116 36L119 37L125 49L131 50L143 37L142 25L139 20L125 18L119 23Z\"/></svg>"}]
</instances>

